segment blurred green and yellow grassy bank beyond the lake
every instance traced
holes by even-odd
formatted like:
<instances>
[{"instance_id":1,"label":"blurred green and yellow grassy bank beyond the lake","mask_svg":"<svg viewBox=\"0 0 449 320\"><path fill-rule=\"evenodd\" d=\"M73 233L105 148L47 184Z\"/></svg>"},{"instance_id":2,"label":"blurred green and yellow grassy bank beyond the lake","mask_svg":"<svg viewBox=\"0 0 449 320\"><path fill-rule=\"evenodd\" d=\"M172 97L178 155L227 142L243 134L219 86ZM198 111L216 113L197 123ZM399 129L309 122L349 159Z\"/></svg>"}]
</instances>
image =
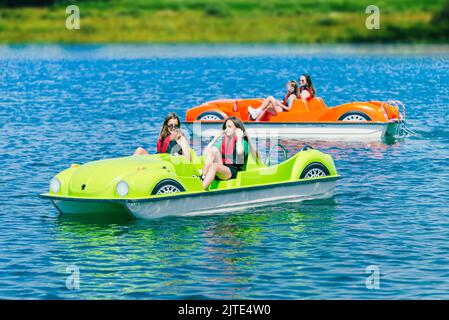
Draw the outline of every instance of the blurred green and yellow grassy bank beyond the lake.
<instances>
[{"instance_id":1,"label":"blurred green and yellow grassy bank beyond the lake","mask_svg":"<svg viewBox=\"0 0 449 320\"><path fill-rule=\"evenodd\" d=\"M69 4L80 30L65 28ZM0 42L447 43L449 0L0 0Z\"/></svg>"}]
</instances>

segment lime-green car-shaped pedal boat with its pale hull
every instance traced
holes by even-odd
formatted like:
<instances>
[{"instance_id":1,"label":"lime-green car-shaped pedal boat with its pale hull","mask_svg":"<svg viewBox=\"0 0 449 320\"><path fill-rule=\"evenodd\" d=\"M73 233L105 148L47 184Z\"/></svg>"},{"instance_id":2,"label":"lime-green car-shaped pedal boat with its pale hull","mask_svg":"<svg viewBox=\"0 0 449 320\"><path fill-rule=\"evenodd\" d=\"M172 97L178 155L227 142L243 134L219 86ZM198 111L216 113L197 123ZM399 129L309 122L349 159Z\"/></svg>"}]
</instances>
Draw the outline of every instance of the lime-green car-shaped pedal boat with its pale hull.
<instances>
[{"instance_id":1,"label":"lime-green car-shaped pedal boat with its pale hull","mask_svg":"<svg viewBox=\"0 0 449 320\"><path fill-rule=\"evenodd\" d=\"M63 214L127 213L132 218L188 216L333 196L340 178L330 155L303 148L276 165L248 157L235 179L202 188L204 157L140 155L71 165L41 194Z\"/></svg>"}]
</instances>

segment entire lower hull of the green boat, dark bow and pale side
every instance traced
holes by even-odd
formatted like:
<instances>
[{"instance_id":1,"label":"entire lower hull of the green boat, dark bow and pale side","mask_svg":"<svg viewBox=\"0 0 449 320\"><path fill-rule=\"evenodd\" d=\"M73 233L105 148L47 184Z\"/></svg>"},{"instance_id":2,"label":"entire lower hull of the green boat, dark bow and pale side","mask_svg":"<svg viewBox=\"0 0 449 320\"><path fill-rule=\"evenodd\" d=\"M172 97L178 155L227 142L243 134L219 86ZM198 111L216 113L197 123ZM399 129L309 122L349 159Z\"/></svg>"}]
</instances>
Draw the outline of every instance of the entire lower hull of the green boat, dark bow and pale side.
<instances>
[{"instance_id":1,"label":"entire lower hull of the green boat, dark bow and pale side","mask_svg":"<svg viewBox=\"0 0 449 320\"><path fill-rule=\"evenodd\" d=\"M134 218L154 219L165 216L195 216L235 212L274 203L330 198L333 196L338 179L339 177L315 181L300 180L275 186L159 196L138 200L76 199L47 195L41 197L50 199L63 214L96 213L108 215L123 213Z\"/></svg>"}]
</instances>

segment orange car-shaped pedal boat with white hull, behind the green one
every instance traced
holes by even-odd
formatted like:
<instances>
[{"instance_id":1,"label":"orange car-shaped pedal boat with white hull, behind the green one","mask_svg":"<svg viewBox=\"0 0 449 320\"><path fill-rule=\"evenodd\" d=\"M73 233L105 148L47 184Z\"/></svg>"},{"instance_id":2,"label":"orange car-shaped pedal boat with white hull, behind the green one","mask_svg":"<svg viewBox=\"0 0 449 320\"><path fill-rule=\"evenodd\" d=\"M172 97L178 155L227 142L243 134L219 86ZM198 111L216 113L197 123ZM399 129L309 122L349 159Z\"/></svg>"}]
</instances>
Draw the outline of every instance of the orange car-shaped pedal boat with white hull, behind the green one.
<instances>
[{"instance_id":1,"label":"orange car-shaped pedal boat with white hull, behind the green one","mask_svg":"<svg viewBox=\"0 0 449 320\"><path fill-rule=\"evenodd\" d=\"M400 101L350 102L328 107L319 98L297 99L289 111L253 121L248 107L264 99L223 99L203 103L186 112L185 124L197 136L217 134L217 122L236 116L251 137L279 137L324 141L383 141L402 135L405 106ZM200 125L199 125L200 124Z\"/></svg>"}]
</instances>

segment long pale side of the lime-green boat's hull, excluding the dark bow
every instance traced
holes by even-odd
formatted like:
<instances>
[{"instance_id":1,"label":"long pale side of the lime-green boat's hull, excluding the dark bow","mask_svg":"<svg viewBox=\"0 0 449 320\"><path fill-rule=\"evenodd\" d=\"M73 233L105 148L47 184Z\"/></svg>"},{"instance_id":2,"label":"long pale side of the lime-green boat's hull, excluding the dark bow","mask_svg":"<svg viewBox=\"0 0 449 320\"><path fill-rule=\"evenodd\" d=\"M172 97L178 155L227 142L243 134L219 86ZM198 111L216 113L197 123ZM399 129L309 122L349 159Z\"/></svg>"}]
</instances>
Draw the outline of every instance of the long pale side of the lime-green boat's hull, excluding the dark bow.
<instances>
[{"instance_id":1,"label":"long pale side of the lime-green boat's hull, excluding the dark bow","mask_svg":"<svg viewBox=\"0 0 449 320\"><path fill-rule=\"evenodd\" d=\"M141 219L235 212L281 202L330 198L333 196L337 179L303 180L283 183L276 187L241 188L226 192L211 191L195 196L179 195L127 201L124 205L134 217Z\"/></svg>"}]
</instances>

